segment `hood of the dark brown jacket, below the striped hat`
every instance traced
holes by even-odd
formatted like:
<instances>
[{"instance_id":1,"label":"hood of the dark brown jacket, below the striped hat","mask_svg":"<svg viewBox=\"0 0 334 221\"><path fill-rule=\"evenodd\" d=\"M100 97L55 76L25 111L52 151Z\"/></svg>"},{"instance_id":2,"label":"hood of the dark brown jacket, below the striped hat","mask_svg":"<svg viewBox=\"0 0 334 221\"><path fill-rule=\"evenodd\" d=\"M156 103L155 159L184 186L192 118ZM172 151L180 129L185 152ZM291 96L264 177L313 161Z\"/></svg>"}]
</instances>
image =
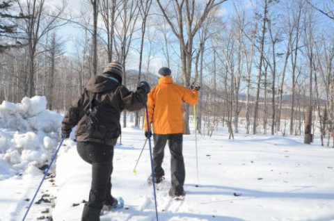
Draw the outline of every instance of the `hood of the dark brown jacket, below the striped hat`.
<instances>
[{"instance_id":1,"label":"hood of the dark brown jacket, below the striped hat","mask_svg":"<svg viewBox=\"0 0 334 221\"><path fill-rule=\"evenodd\" d=\"M106 78L103 75L93 76L89 79L86 85L86 89L93 93L106 92L116 88L119 83L111 79Z\"/></svg>"}]
</instances>

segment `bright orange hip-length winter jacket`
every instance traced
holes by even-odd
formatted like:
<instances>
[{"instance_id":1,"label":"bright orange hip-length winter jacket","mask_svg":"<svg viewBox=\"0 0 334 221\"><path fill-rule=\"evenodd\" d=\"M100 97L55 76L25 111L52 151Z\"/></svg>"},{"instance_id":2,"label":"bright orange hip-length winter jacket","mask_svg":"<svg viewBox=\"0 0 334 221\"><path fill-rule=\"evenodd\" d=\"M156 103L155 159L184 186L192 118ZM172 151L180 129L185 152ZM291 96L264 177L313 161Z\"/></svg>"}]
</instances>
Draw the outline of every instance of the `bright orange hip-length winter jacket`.
<instances>
[{"instance_id":1,"label":"bright orange hip-length winter jacket","mask_svg":"<svg viewBox=\"0 0 334 221\"><path fill-rule=\"evenodd\" d=\"M197 104L198 90L177 85L170 76L161 77L148 94L148 119L150 126L153 124L153 133L184 133L183 102Z\"/></svg>"}]
</instances>

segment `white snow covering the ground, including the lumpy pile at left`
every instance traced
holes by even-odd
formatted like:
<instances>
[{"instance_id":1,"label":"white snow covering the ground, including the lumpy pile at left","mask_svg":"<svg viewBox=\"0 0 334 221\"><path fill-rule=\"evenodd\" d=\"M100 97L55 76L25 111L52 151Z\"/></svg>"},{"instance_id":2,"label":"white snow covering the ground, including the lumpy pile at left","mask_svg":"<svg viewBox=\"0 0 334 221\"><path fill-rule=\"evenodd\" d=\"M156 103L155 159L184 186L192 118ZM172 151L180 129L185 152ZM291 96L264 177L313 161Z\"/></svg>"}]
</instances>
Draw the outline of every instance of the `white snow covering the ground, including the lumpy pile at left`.
<instances>
[{"instance_id":1,"label":"white snow covering the ground, including the lumpy pile at left","mask_svg":"<svg viewBox=\"0 0 334 221\"><path fill-rule=\"evenodd\" d=\"M22 220L58 142L62 116L45 110L44 97L0 106L0 220ZM129 123L131 125L131 123ZM193 131L193 130L192 130ZM71 138L74 138L73 134ZM150 152L143 130L122 129L115 147L113 195L125 208L101 220L156 220ZM157 190L159 220L334 220L334 149L315 137L304 145L298 136L234 134L225 128L214 136L184 136L186 197L168 197L170 154L166 147L166 181ZM42 184L26 220L80 220L90 189L90 165L76 143L63 142L52 174ZM56 175L54 177L54 175Z\"/></svg>"}]
</instances>

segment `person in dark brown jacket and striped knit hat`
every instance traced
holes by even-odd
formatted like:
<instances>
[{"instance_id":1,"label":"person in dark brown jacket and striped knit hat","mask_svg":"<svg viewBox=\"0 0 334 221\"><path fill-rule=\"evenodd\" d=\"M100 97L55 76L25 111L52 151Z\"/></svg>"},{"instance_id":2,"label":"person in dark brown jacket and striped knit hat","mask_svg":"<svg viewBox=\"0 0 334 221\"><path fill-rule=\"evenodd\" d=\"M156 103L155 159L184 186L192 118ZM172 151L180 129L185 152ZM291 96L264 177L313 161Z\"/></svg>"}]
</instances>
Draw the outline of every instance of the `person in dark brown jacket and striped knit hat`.
<instances>
[{"instance_id":1,"label":"person in dark brown jacket and striped knit hat","mask_svg":"<svg viewBox=\"0 0 334 221\"><path fill-rule=\"evenodd\" d=\"M89 200L81 220L100 220L102 207L115 206L118 200L111 195L113 147L120 136L120 113L138 111L145 107L150 85L141 81L137 91L122 85L122 65L113 61L99 76L89 79L86 90L72 101L62 122L63 139L69 138L77 126L77 151L92 165L92 183Z\"/></svg>"}]
</instances>

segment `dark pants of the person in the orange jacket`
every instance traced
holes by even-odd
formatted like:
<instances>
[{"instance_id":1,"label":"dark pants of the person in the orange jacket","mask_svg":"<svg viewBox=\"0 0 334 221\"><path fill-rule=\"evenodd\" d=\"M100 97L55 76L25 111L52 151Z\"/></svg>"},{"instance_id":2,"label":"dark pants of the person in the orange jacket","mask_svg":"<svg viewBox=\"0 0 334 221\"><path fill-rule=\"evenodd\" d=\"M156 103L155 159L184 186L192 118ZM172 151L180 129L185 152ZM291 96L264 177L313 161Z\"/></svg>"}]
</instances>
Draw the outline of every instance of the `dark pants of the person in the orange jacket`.
<instances>
[{"instance_id":1,"label":"dark pants of the person in the orange jacket","mask_svg":"<svg viewBox=\"0 0 334 221\"><path fill-rule=\"evenodd\" d=\"M182 192L184 179L186 177L186 170L184 169L184 159L182 155L182 133L172 134L153 134L154 148L153 148L153 164L154 176L164 176L164 169L161 167L164 161L164 148L168 141L170 151L170 175L171 175L171 189L173 191Z\"/></svg>"}]
</instances>

